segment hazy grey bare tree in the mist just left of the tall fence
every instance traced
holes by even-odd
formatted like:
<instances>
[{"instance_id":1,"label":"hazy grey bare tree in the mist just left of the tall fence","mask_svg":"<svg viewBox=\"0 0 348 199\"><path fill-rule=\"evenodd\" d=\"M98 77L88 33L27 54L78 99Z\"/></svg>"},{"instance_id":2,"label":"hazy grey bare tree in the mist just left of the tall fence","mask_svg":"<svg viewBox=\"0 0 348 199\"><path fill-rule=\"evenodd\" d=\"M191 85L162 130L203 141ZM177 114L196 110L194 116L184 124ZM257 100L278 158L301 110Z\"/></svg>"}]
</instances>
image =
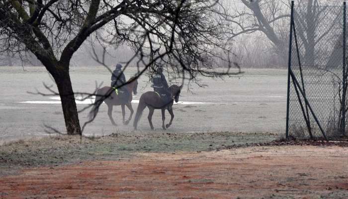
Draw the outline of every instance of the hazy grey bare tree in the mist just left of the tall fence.
<instances>
[{"instance_id":1,"label":"hazy grey bare tree in the mist just left of the tall fence","mask_svg":"<svg viewBox=\"0 0 348 199\"><path fill-rule=\"evenodd\" d=\"M229 22L231 38L261 32L273 45L274 52L286 59L290 11L284 0L224 1L222 15ZM227 9L229 8L229 9ZM229 13L229 12L233 13Z\"/></svg>"}]
</instances>

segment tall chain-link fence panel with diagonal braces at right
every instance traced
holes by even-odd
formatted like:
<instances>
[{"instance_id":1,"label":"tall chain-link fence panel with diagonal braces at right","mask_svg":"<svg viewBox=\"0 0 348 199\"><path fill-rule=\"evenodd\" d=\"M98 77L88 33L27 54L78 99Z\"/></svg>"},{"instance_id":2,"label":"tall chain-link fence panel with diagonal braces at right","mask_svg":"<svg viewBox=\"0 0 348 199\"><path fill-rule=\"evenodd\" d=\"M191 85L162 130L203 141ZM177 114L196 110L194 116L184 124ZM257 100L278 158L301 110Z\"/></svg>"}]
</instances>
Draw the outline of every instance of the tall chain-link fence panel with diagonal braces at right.
<instances>
[{"instance_id":1,"label":"tall chain-link fence panel with diagonal braces at right","mask_svg":"<svg viewBox=\"0 0 348 199\"><path fill-rule=\"evenodd\" d=\"M344 135L346 4L291 11L287 136Z\"/></svg>"}]
</instances>

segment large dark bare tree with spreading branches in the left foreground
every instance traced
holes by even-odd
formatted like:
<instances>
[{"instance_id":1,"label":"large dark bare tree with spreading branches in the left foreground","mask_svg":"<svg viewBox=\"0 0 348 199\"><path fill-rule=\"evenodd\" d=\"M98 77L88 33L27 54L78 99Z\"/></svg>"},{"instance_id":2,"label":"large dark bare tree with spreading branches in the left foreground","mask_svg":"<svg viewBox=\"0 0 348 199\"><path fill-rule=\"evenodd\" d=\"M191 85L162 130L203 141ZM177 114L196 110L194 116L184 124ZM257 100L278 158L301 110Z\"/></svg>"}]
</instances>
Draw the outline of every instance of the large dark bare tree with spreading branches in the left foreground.
<instances>
[{"instance_id":1,"label":"large dark bare tree with spreading branches in the left foreground","mask_svg":"<svg viewBox=\"0 0 348 199\"><path fill-rule=\"evenodd\" d=\"M101 43L131 46L131 59L145 66L137 75L162 59L190 80L220 76L229 72L206 64L217 48L230 56L219 9L218 0L0 0L0 48L41 61L57 84L68 134L82 134L69 66L93 32Z\"/></svg>"}]
</instances>

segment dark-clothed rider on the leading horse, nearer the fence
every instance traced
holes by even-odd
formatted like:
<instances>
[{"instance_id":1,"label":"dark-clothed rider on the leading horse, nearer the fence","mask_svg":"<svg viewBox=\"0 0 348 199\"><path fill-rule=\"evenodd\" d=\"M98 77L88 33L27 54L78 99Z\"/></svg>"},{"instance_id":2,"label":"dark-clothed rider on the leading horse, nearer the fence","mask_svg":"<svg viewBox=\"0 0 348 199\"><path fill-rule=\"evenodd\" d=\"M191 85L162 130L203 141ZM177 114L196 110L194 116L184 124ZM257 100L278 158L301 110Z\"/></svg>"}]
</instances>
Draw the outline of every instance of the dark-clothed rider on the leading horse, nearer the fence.
<instances>
[{"instance_id":1,"label":"dark-clothed rider on the leading horse, nearer the fence","mask_svg":"<svg viewBox=\"0 0 348 199\"><path fill-rule=\"evenodd\" d=\"M166 77L163 75L162 66L157 67L156 73L152 77L152 84L154 91L160 96L165 96L166 99L171 98Z\"/></svg>"}]
</instances>

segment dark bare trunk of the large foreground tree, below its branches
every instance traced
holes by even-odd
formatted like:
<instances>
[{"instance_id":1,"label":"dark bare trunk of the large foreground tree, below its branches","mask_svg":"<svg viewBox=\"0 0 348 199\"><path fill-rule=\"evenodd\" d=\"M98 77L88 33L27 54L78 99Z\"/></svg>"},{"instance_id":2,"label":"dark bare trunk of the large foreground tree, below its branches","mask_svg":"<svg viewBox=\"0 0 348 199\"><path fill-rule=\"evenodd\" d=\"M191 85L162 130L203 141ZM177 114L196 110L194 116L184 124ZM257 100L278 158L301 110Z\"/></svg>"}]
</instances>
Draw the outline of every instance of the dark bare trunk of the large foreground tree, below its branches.
<instances>
[{"instance_id":1,"label":"dark bare trunk of the large foreground tree, below its branches","mask_svg":"<svg viewBox=\"0 0 348 199\"><path fill-rule=\"evenodd\" d=\"M62 101L63 114L68 135L82 135L69 70L60 69L58 74L53 75L53 78L56 81L59 96Z\"/></svg>"}]
</instances>

